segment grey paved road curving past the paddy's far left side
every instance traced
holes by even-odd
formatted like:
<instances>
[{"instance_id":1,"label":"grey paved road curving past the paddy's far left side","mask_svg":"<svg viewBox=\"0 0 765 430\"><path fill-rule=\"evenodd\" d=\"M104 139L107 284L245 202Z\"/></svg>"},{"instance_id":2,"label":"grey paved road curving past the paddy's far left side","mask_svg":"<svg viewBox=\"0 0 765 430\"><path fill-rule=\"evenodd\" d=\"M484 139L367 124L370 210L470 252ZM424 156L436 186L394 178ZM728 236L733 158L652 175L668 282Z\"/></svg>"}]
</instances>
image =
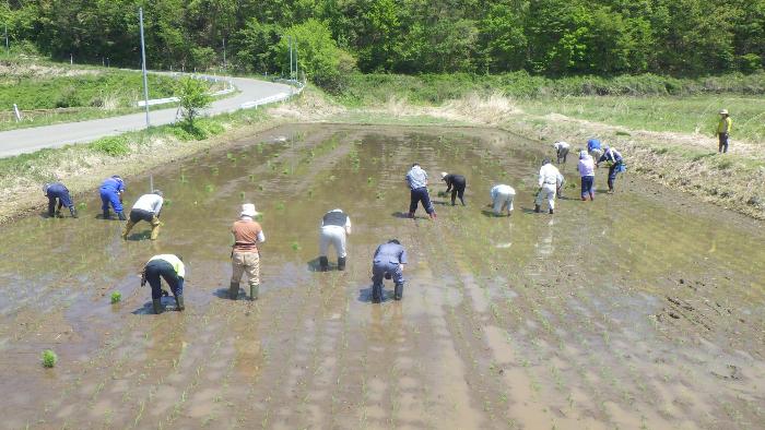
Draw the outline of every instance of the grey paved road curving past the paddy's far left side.
<instances>
[{"instance_id":1,"label":"grey paved road curving past the paddy's far left side","mask_svg":"<svg viewBox=\"0 0 765 430\"><path fill-rule=\"evenodd\" d=\"M213 101L207 110L210 115L232 112L243 107L272 101L289 96L292 87L285 84L257 81L246 77L232 77L239 89L232 97ZM150 112L152 126L168 124L175 121L176 108ZM55 126L0 132L0 157L32 153L45 147L59 147L72 143L92 142L96 139L142 130L145 128L145 114L131 114L121 117L69 122Z\"/></svg>"}]
</instances>

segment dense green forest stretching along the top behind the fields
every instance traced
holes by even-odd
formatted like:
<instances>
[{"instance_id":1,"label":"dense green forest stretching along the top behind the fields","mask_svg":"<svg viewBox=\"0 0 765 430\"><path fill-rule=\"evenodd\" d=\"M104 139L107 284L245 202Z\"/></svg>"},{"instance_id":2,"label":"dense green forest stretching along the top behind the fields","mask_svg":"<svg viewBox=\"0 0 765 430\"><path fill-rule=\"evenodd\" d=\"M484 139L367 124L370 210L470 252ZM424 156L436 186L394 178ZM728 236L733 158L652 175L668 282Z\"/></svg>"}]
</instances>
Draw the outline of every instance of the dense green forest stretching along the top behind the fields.
<instances>
[{"instance_id":1,"label":"dense green forest stretching along the top behind the fields","mask_svg":"<svg viewBox=\"0 0 765 430\"><path fill-rule=\"evenodd\" d=\"M10 0L11 43L136 67L143 5L151 68L284 73L698 76L761 70L765 0Z\"/></svg>"}]
</instances>

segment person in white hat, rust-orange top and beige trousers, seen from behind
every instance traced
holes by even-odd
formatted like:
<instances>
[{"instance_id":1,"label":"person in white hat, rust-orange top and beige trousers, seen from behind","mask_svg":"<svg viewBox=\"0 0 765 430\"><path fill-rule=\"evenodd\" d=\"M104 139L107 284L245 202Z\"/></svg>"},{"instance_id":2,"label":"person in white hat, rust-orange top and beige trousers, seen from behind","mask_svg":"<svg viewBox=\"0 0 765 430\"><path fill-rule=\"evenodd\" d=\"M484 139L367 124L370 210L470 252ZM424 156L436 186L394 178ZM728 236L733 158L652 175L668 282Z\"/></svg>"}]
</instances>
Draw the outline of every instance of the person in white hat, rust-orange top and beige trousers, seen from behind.
<instances>
[{"instance_id":1,"label":"person in white hat, rust-orange top and beige trousers, seen from behind","mask_svg":"<svg viewBox=\"0 0 765 430\"><path fill-rule=\"evenodd\" d=\"M228 297L232 300L236 300L239 296L239 282L245 272L249 280L250 300L258 300L260 289L260 250L258 243L266 241L266 235L263 235L260 224L255 220L256 216L258 216L258 212L254 204L243 204L239 219L234 222L231 227L231 232L234 235L234 249L231 253L232 276Z\"/></svg>"}]
</instances>

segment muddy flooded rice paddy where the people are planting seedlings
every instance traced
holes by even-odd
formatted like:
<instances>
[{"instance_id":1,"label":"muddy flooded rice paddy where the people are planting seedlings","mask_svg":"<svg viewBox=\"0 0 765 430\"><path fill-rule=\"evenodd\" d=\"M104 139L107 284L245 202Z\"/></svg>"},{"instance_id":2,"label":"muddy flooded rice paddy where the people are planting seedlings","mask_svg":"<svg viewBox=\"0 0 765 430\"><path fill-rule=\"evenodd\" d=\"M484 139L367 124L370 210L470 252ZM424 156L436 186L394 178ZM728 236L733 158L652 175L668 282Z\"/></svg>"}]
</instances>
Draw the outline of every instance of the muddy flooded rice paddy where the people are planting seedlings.
<instances>
[{"instance_id":1,"label":"muddy flooded rice paddy where the people are planting seedlings","mask_svg":"<svg viewBox=\"0 0 765 430\"><path fill-rule=\"evenodd\" d=\"M495 130L285 126L155 171L155 242L145 223L122 241L95 192L80 219L3 226L0 427L763 428L762 226L633 175L534 214L542 156ZM400 215L413 162L435 223ZM436 195L443 170L468 178L467 207ZM486 212L497 182L518 191L509 218ZM127 188L130 207L149 180ZM249 201L260 300L232 301L228 229ZM348 270L317 273L336 207ZM392 237L404 297L373 304L372 254ZM137 274L156 253L185 258L185 312L151 314Z\"/></svg>"}]
</instances>

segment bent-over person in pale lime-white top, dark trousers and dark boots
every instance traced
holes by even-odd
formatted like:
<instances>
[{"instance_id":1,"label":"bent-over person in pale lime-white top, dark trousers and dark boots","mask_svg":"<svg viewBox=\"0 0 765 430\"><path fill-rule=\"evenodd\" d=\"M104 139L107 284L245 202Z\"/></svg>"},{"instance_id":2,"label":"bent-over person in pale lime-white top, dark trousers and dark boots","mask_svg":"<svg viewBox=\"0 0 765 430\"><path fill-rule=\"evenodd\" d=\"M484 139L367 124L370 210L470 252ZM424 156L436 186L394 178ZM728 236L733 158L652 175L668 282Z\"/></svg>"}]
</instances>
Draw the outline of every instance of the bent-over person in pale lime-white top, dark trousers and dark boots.
<instances>
[{"instance_id":1,"label":"bent-over person in pale lime-white top, dark trousers and dark boots","mask_svg":"<svg viewBox=\"0 0 765 430\"><path fill-rule=\"evenodd\" d=\"M141 277L141 286L149 285L152 287L152 308L154 313L162 313L165 307L162 306L162 280L165 279L173 291L177 309L183 311L184 306L184 277L186 276L186 266L184 258L173 254L154 255L149 260L143 267ZM166 295L166 292L165 292Z\"/></svg>"}]
</instances>

